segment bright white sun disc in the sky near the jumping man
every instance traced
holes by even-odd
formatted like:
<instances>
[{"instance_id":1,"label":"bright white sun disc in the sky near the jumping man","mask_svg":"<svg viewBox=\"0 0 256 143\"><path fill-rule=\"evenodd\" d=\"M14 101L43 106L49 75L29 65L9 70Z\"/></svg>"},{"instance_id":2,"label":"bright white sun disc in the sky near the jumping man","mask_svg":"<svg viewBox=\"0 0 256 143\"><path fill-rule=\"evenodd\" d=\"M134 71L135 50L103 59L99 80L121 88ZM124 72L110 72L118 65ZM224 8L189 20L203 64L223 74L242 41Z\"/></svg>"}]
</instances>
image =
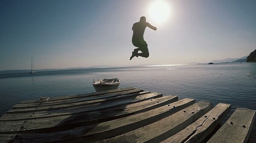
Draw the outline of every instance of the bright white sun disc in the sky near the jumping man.
<instances>
[{"instance_id":1,"label":"bright white sun disc in the sky near the jumping man","mask_svg":"<svg viewBox=\"0 0 256 143\"><path fill-rule=\"evenodd\" d=\"M149 16L157 23L161 23L168 19L170 8L163 0L157 0L149 7Z\"/></svg>"}]
</instances>

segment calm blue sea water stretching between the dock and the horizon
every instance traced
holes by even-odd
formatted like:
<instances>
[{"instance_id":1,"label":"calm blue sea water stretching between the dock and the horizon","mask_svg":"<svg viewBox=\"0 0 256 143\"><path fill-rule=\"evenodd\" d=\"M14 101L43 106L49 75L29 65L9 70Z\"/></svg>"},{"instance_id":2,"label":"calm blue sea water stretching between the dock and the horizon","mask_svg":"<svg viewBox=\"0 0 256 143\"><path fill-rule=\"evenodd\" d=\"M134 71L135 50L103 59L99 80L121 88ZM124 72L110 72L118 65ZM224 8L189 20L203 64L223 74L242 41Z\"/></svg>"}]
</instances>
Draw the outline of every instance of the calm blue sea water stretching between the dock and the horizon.
<instances>
[{"instance_id":1,"label":"calm blue sea water stretching between the dock and the horizon","mask_svg":"<svg viewBox=\"0 0 256 143\"><path fill-rule=\"evenodd\" d=\"M250 76L247 76L250 74ZM95 92L93 79L119 78L120 88L256 109L256 63L115 67L0 75L0 116L24 100Z\"/></svg>"}]
</instances>

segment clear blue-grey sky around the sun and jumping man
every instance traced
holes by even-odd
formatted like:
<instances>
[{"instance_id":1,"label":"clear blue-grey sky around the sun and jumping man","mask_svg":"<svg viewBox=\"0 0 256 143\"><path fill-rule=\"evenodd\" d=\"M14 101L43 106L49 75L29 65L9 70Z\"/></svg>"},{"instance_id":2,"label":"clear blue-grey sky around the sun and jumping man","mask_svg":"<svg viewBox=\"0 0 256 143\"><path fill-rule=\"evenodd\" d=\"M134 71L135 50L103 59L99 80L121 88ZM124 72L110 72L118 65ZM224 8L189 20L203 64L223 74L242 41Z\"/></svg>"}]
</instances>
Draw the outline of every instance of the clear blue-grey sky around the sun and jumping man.
<instances>
[{"instance_id":1,"label":"clear blue-grey sky around the sun and jumping man","mask_svg":"<svg viewBox=\"0 0 256 143\"><path fill-rule=\"evenodd\" d=\"M256 49L256 0L0 0L0 70L207 63ZM129 60L141 16L150 56Z\"/></svg>"}]
</instances>

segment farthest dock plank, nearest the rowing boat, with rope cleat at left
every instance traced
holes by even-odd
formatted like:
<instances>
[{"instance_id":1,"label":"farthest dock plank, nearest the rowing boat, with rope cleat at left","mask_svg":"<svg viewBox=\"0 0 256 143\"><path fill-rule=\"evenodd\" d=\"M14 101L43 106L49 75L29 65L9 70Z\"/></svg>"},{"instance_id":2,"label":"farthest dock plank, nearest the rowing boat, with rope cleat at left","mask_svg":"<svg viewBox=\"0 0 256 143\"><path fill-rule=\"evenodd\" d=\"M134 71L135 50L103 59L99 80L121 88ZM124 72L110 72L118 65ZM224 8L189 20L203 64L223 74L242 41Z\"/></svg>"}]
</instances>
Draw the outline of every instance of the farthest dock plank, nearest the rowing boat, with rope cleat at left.
<instances>
[{"instance_id":1,"label":"farthest dock plank, nearest the rowing boat, with rope cleat at left","mask_svg":"<svg viewBox=\"0 0 256 143\"><path fill-rule=\"evenodd\" d=\"M128 88L123 88L123 89L100 91L100 92L95 92L95 93L67 95L67 96L49 98L48 101L58 101L58 100L67 100L67 99L74 99L74 98L84 98L84 97L90 97L90 96L104 95L104 94L108 94L108 93L118 93L118 92L121 92L121 91L134 90L134 89L135 88L133 88L133 87L128 87ZM40 102L40 103L42 102L42 101L39 100L39 97L38 97L38 100L21 101L20 104L38 103L38 102ZM44 102L46 102L46 101L44 101Z\"/></svg>"}]
</instances>

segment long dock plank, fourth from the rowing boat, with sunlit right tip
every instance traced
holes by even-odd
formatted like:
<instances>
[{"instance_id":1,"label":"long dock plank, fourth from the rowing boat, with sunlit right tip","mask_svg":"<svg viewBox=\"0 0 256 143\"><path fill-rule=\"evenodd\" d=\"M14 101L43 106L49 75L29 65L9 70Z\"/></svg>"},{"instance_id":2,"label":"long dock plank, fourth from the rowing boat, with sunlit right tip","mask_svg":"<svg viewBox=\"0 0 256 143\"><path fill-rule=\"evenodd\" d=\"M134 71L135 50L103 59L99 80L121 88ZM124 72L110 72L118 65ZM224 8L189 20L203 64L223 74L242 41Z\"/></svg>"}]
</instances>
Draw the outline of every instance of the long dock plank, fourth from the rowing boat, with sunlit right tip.
<instances>
[{"instance_id":1,"label":"long dock plank, fourth from the rowing boat, with sunlit right tip","mask_svg":"<svg viewBox=\"0 0 256 143\"><path fill-rule=\"evenodd\" d=\"M93 105L88 105L84 107L75 107L75 108L69 108L69 109L41 111L41 112L4 114L0 118L0 121L32 120L32 119L39 119L39 118L52 118L52 117L64 116L64 115L73 115L73 114L78 114L83 112L93 112L93 111L99 111L103 109L109 109L112 107L127 106L128 104L133 104L133 103L145 101L152 98L159 98L163 96L160 93L144 94L144 92L141 92L136 94L138 94L138 96L136 97L125 98L120 101L108 102L106 104L93 104Z\"/></svg>"}]
</instances>

